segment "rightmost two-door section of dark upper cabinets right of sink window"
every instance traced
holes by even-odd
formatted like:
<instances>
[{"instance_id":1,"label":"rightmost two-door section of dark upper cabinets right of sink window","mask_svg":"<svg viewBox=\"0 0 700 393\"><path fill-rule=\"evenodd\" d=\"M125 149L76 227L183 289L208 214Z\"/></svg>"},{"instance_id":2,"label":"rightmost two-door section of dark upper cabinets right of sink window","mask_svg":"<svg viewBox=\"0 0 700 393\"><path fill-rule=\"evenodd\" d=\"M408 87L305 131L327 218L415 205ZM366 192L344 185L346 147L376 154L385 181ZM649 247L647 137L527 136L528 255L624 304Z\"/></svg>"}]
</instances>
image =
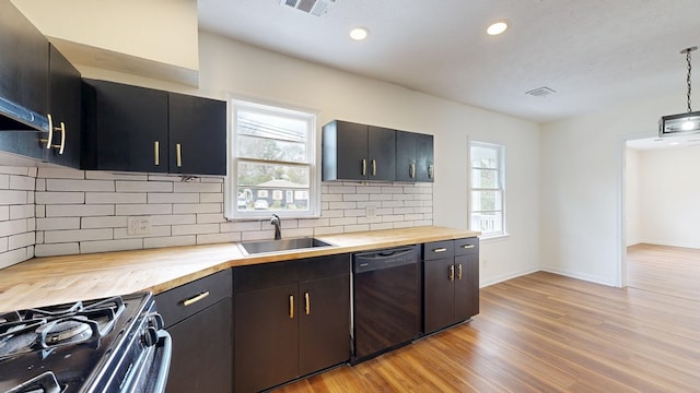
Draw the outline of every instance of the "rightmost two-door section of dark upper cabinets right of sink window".
<instances>
[{"instance_id":1,"label":"rightmost two-door section of dark upper cabinets right of sink window","mask_svg":"<svg viewBox=\"0 0 700 393\"><path fill-rule=\"evenodd\" d=\"M434 181L433 135L396 132L396 180Z\"/></svg>"}]
</instances>

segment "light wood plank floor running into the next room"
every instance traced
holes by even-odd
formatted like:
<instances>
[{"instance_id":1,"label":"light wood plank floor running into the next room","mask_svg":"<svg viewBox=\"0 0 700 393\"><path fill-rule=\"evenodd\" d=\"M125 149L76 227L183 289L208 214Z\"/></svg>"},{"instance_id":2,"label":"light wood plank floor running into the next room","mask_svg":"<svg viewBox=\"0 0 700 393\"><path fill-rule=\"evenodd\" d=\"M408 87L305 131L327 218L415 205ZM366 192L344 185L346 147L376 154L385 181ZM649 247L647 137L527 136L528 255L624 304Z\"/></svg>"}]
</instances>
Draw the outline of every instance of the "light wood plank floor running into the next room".
<instances>
[{"instance_id":1,"label":"light wood plank floor running into the next room","mask_svg":"<svg viewBox=\"0 0 700 393\"><path fill-rule=\"evenodd\" d=\"M626 289L510 279L481 290L470 323L276 392L700 392L700 251L629 259Z\"/></svg>"}]
</instances>

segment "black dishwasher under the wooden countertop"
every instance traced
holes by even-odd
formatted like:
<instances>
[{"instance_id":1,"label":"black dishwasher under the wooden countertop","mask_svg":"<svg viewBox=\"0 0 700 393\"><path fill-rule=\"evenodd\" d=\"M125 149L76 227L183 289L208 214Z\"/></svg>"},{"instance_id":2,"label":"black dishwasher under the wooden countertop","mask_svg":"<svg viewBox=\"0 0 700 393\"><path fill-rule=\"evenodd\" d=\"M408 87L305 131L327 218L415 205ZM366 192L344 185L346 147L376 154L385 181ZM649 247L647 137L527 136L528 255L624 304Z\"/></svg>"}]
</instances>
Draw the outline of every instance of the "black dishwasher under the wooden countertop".
<instances>
[{"instance_id":1,"label":"black dishwasher under the wooden countertop","mask_svg":"<svg viewBox=\"0 0 700 393\"><path fill-rule=\"evenodd\" d=\"M357 253L352 273L352 364L420 335L418 246Z\"/></svg>"}]
</instances>

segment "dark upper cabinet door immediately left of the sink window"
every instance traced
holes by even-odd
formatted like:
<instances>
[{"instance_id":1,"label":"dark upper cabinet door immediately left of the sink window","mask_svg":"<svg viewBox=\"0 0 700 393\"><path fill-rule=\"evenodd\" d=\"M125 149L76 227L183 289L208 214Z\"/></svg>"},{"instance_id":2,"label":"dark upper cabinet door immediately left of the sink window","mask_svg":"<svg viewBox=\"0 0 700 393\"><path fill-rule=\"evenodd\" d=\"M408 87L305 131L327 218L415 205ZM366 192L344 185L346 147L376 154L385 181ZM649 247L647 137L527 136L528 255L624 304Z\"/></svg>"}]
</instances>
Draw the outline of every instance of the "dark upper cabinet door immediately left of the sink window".
<instances>
[{"instance_id":1,"label":"dark upper cabinet door immediately left of the sink window","mask_svg":"<svg viewBox=\"0 0 700 393\"><path fill-rule=\"evenodd\" d=\"M168 94L170 171L226 174L226 103Z\"/></svg>"}]
</instances>

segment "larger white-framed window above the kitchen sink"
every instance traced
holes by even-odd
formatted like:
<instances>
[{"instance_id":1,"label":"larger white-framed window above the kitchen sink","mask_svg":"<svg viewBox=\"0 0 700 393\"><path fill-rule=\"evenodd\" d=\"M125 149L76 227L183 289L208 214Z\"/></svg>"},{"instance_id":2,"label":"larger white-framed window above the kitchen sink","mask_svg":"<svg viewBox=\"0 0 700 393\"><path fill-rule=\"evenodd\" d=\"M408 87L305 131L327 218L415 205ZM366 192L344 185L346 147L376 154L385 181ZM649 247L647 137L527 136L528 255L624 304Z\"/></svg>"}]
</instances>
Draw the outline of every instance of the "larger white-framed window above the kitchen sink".
<instances>
[{"instance_id":1,"label":"larger white-framed window above the kitchen sink","mask_svg":"<svg viewBox=\"0 0 700 393\"><path fill-rule=\"evenodd\" d=\"M318 215L316 115L237 99L231 108L226 217Z\"/></svg>"}]
</instances>

